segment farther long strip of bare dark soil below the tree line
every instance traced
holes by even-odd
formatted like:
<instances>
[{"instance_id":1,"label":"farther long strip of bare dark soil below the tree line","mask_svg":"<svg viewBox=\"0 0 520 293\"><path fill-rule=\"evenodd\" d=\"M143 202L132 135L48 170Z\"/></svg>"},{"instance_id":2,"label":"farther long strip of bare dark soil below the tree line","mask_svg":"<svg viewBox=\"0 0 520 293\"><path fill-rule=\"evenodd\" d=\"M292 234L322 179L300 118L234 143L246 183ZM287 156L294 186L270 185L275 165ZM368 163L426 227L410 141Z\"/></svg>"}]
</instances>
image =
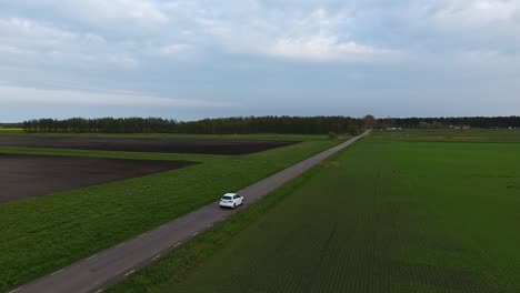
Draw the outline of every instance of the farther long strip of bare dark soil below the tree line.
<instances>
[{"instance_id":1,"label":"farther long strip of bare dark soil below the tree line","mask_svg":"<svg viewBox=\"0 0 520 293\"><path fill-rule=\"evenodd\" d=\"M204 154L248 154L294 143L298 141L0 135L0 146Z\"/></svg>"}]
</instances>

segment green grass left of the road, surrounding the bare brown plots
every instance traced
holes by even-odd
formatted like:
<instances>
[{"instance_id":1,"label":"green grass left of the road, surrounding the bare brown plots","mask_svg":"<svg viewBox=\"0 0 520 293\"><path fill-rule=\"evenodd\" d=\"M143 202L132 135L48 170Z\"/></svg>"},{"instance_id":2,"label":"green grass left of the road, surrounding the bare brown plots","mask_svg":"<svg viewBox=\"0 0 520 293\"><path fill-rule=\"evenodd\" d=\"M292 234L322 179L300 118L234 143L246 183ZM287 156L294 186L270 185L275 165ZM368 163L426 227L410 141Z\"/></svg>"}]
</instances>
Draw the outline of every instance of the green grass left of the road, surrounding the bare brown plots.
<instances>
[{"instance_id":1,"label":"green grass left of the road, surrounding the bare brown plots","mask_svg":"<svg viewBox=\"0 0 520 293\"><path fill-rule=\"evenodd\" d=\"M307 140L248 155L0 148L0 153L190 160L186 169L0 204L0 291L7 291L329 149ZM28 182L34 184L34 182Z\"/></svg>"}]
</instances>

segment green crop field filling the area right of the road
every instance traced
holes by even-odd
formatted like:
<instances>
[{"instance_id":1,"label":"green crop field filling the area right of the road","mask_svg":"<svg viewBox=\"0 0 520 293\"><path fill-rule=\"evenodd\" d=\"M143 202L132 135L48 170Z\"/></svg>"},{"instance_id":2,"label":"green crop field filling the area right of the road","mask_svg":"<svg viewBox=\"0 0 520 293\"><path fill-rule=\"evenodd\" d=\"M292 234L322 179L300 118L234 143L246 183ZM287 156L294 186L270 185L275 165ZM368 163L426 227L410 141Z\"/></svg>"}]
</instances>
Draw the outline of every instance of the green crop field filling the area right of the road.
<instances>
[{"instance_id":1,"label":"green crop field filling the area right of the road","mask_svg":"<svg viewBox=\"0 0 520 293\"><path fill-rule=\"evenodd\" d=\"M363 139L113 291L520 292L520 144L392 135Z\"/></svg>"}]
</instances>

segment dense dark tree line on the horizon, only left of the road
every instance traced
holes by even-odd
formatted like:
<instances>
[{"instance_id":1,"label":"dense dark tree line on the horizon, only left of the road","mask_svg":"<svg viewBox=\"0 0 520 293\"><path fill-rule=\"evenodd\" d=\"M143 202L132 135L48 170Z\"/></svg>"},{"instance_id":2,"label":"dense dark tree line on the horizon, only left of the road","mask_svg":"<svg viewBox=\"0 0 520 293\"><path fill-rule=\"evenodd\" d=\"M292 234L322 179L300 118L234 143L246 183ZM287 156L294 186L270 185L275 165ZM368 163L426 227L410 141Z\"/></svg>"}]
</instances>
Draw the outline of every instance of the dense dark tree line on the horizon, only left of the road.
<instances>
[{"instance_id":1,"label":"dense dark tree line on the horizon, only left of the road","mask_svg":"<svg viewBox=\"0 0 520 293\"><path fill-rule=\"evenodd\" d=\"M237 117L188 122L161 118L72 118L24 121L23 130L74 133L357 134L362 125L362 120L349 117Z\"/></svg>"}]
</instances>

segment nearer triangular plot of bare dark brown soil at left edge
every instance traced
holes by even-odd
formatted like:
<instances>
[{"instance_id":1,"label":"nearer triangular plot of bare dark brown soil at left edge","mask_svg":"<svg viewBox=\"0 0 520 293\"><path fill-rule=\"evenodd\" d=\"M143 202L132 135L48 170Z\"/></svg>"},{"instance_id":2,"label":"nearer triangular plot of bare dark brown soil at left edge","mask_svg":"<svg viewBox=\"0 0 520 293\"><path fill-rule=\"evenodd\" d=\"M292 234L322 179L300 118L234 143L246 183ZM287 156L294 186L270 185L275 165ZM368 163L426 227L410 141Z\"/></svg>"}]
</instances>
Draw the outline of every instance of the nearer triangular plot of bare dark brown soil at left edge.
<instances>
[{"instance_id":1,"label":"nearer triangular plot of bare dark brown soil at left edge","mask_svg":"<svg viewBox=\"0 0 520 293\"><path fill-rule=\"evenodd\" d=\"M0 203L191 164L196 162L0 154Z\"/></svg>"}]
</instances>

